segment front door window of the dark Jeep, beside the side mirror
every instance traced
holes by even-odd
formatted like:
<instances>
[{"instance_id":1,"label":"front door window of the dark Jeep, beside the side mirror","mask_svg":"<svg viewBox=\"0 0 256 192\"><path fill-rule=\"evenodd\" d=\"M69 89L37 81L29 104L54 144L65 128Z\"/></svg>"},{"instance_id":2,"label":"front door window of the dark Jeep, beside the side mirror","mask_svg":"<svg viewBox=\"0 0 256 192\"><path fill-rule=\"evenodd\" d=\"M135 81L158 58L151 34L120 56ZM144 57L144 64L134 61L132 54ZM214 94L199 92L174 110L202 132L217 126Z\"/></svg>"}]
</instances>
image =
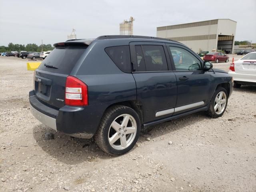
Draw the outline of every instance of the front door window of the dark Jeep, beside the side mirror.
<instances>
[{"instance_id":1,"label":"front door window of the dark Jeep, beside the side mirror","mask_svg":"<svg viewBox=\"0 0 256 192\"><path fill-rule=\"evenodd\" d=\"M171 47L172 58L176 71L184 70L202 70L200 60L185 49Z\"/></svg>"}]
</instances>

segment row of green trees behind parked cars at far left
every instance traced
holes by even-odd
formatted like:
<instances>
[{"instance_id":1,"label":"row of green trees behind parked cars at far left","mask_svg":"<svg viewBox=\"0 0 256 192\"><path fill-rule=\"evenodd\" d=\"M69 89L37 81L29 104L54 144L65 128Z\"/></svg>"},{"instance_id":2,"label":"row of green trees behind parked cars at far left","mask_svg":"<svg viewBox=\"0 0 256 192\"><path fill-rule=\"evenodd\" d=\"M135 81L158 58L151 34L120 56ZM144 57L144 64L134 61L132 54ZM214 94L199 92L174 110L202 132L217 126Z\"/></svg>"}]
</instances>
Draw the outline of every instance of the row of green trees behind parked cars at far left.
<instances>
[{"instance_id":1,"label":"row of green trees behind parked cars at far left","mask_svg":"<svg viewBox=\"0 0 256 192\"><path fill-rule=\"evenodd\" d=\"M34 43L29 43L26 46L22 44L13 44L9 43L8 46L0 46L0 52L11 52L11 51L29 51L29 52L41 52L43 47L43 51L49 51L53 50L54 47L51 44L43 44L43 45L37 45Z\"/></svg>"}]
</instances>

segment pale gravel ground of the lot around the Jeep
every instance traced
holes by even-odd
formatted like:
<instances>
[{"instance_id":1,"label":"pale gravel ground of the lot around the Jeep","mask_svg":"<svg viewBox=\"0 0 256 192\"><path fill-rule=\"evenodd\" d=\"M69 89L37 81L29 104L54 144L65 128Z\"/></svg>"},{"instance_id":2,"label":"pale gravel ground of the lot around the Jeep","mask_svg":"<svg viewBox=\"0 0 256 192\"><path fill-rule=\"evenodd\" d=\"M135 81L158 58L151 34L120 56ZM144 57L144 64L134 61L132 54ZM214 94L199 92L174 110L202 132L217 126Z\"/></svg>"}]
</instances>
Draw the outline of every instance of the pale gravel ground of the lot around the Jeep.
<instances>
[{"instance_id":1,"label":"pale gravel ground of the lot around the Jeep","mask_svg":"<svg viewBox=\"0 0 256 192\"><path fill-rule=\"evenodd\" d=\"M112 157L30 114L26 62L0 57L1 192L256 191L256 87L234 89L220 118L199 112L152 126L128 154Z\"/></svg>"}]
</instances>

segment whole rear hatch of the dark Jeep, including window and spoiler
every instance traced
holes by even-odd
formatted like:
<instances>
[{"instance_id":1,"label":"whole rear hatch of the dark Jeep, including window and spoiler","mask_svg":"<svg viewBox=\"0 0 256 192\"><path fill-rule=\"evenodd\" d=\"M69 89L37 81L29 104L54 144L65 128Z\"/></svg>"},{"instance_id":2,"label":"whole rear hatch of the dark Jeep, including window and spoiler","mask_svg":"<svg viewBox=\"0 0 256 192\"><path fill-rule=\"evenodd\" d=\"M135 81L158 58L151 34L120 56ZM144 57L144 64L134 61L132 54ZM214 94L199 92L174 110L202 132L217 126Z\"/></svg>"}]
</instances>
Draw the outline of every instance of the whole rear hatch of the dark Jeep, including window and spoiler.
<instances>
[{"instance_id":1,"label":"whole rear hatch of the dark Jeep, including window and spoiler","mask_svg":"<svg viewBox=\"0 0 256 192\"><path fill-rule=\"evenodd\" d=\"M59 109L65 105L66 78L88 45L60 43L40 64L34 74L36 97L44 104Z\"/></svg>"}]
</instances>

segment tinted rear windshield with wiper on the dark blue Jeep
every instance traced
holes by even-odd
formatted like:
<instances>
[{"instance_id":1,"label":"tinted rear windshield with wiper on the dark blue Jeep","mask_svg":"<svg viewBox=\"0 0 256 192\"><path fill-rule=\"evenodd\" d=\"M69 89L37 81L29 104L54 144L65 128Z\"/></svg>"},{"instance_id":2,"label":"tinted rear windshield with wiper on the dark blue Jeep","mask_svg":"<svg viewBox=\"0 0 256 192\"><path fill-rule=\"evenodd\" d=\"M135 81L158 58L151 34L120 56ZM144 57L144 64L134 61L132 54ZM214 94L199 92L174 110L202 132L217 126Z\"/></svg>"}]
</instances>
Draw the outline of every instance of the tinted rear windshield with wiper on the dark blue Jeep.
<instances>
[{"instance_id":1,"label":"tinted rear windshield with wiper on the dark blue Jeep","mask_svg":"<svg viewBox=\"0 0 256 192\"><path fill-rule=\"evenodd\" d=\"M59 46L43 60L38 69L69 75L88 46ZM47 67L48 66L48 67Z\"/></svg>"}]
</instances>

